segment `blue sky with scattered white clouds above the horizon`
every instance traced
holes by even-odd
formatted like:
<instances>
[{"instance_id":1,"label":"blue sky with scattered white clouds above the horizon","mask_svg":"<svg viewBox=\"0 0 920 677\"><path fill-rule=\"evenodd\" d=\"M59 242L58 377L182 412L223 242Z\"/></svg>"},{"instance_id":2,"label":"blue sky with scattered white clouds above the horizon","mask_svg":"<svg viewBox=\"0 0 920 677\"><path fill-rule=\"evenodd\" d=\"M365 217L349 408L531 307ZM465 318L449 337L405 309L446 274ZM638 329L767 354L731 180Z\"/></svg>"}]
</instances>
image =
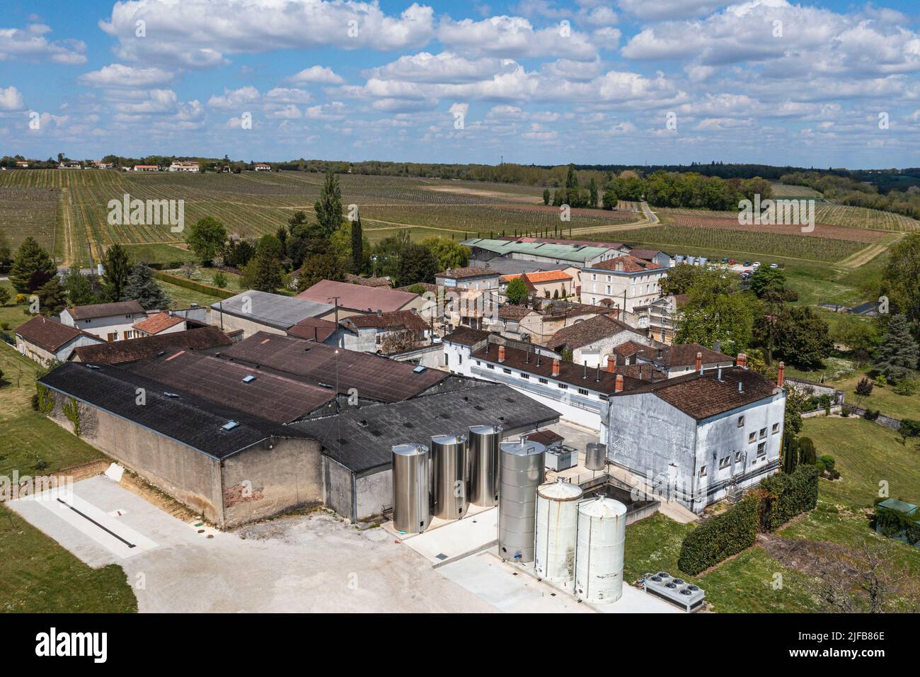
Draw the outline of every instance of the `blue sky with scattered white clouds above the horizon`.
<instances>
[{"instance_id":1,"label":"blue sky with scattered white clouds above the horizon","mask_svg":"<svg viewBox=\"0 0 920 677\"><path fill-rule=\"evenodd\" d=\"M907 0L4 10L0 154L920 164Z\"/></svg>"}]
</instances>

